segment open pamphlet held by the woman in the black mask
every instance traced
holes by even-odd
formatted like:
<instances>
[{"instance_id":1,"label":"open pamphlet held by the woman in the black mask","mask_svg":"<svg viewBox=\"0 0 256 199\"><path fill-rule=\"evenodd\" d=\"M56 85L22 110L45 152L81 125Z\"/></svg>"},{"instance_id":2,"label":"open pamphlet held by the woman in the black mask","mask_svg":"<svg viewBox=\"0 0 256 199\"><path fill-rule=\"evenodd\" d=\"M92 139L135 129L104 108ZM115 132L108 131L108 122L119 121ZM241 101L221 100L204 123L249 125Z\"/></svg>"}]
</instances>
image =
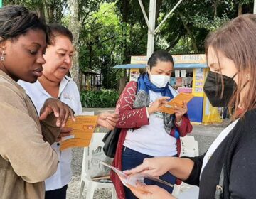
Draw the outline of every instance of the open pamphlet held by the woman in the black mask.
<instances>
[{"instance_id":1,"label":"open pamphlet held by the woman in the black mask","mask_svg":"<svg viewBox=\"0 0 256 199\"><path fill-rule=\"evenodd\" d=\"M156 181L156 182L163 183L165 185L169 185L171 187L174 187L174 185L172 185L171 183L167 183L166 181L162 181L159 178L156 178L156 177L151 176L151 175L146 174L146 173L133 173L131 175L127 175L127 174L123 173L122 171L120 171L118 168L116 168L114 166L111 166L108 163L105 163L105 162L100 161L100 160L99 160L99 163L101 163L104 166L107 166L107 167L111 168L115 173L117 173L117 176L120 178L123 185L125 185L129 189L138 190L142 193L145 193L145 190L142 190L141 188L139 188L137 186L137 183L145 185L144 179L149 179L151 181Z\"/></svg>"}]
</instances>

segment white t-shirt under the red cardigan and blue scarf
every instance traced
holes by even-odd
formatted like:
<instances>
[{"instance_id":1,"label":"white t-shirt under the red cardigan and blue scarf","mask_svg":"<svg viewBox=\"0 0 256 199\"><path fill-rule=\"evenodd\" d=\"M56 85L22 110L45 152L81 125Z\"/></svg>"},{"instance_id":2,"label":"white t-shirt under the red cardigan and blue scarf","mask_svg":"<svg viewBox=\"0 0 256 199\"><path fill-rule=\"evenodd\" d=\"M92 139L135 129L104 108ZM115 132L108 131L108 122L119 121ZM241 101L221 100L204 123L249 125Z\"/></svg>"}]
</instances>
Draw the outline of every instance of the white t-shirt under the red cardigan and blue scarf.
<instances>
[{"instance_id":1,"label":"white t-shirt under the red cardigan and blue scarf","mask_svg":"<svg viewBox=\"0 0 256 199\"><path fill-rule=\"evenodd\" d=\"M170 87L172 95L178 92ZM149 90L150 104L162 97L161 92ZM150 106L150 105L149 105ZM175 156L177 154L176 138L167 134L164 129L163 114L155 112L149 116L149 125L139 129L129 129L124 146L149 156Z\"/></svg>"}]
</instances>

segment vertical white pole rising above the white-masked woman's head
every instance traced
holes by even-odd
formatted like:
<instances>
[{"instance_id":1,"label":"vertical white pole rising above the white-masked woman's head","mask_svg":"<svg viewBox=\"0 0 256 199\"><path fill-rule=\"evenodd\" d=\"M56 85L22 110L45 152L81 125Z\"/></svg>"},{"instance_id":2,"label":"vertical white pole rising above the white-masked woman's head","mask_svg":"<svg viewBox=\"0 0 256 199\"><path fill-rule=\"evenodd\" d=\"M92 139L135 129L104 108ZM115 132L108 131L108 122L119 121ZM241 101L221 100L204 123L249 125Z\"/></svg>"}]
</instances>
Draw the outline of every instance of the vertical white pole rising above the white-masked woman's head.
<instances>
[{"instance_id":1,"label":"vertical white pole rising above the white-masked woman's head","mask_svg":"<svg viewBox=\"0 0 256 199\"><path fill-rule=\"evenodd\" d=\"M149 58L154 53L154 29L156 26L156 0L149 2L149 26L148 43L146 57ZM152 30L152 32L150 31Z\"/></svg>"}]
</instances>

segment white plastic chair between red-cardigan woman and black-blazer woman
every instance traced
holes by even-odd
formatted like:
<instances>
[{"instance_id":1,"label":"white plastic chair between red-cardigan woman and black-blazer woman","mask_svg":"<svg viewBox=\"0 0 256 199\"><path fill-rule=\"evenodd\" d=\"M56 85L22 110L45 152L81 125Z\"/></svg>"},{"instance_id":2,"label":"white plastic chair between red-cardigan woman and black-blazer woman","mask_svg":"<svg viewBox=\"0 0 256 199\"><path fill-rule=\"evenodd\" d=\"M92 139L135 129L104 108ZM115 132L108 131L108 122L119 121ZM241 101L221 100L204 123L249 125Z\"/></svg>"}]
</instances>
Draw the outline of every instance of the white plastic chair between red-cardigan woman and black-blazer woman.
<instances>
[{"instance_id":1,"label":"white plastic chair between red-cardigan woman and black-blazer woman","mask_svg":"<svg viewBox=\"0 0 256 199\"><path fill-rule=\"evenodd\" d=\"M181 138L181 154L180 156L195 157L199 155L198 141L195 140L194 136L184 136ZM197 188L193 185L181 183L181 185L174 185L172 195L178 197L178 195L190 188Z\"/></svg>"}]
</instances>

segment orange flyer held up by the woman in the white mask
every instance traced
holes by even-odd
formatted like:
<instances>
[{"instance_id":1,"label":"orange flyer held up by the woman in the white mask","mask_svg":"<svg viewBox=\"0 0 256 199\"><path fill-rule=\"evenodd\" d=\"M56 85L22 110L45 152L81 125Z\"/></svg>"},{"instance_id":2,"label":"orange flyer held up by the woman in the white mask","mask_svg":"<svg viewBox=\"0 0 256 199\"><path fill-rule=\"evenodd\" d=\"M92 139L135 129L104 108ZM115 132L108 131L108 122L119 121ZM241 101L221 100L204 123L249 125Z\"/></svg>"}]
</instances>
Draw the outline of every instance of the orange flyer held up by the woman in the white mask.
<instances>
[{"instance_id":1,"label":"orange flyer held up by the woman in the white mask","mask_svg":"<svg viewBox=\"0 0 256 199\"><path fill-rule=\"evenodd\" d=\"M171 99L167 104L160 107L159 112L164 112L168 114L174 114L174 107L183 107L183 102L190 102L193 98L191 93L179 93L174 99Z\"/></svg>"}]
</instances>

